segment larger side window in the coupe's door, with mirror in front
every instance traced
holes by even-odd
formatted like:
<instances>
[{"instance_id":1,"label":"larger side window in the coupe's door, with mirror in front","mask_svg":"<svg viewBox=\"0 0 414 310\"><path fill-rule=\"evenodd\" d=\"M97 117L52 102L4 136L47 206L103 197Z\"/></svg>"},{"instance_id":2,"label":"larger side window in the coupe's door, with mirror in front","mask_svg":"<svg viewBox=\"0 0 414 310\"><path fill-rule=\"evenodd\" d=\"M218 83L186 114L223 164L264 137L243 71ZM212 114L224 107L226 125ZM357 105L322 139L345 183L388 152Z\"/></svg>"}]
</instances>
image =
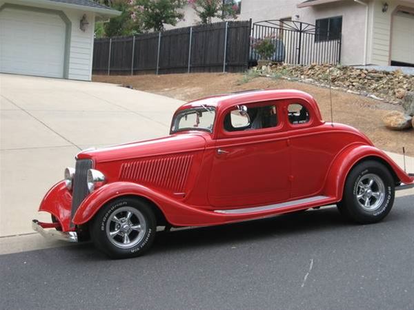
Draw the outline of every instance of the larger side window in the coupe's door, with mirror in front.
<instances>
[{"instance_id":1,"label":"larger side window in the coupe's door, with mirror in front","mask_svg":"<svg viewBox=\"0 0 414 310\"><path fill-rule=\"evenodd\" d=\"M278 124L276 105L262 107L239 106L224 118L224 130L237 132L276 127Z\"/></svg>"}]
</instances>

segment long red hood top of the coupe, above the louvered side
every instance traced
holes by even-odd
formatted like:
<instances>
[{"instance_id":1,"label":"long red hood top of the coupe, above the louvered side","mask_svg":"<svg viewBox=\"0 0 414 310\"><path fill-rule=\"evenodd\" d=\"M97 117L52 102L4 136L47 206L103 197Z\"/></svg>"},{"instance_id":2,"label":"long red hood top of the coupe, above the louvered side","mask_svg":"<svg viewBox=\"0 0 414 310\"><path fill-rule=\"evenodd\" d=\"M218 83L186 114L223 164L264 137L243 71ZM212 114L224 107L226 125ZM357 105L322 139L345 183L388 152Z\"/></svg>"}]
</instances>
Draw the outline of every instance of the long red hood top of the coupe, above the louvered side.
<instances>
[{"instance_id":1,"label":"long red hood top of the coupe, above the louvered side","mask_svg":"<svg viewBox=\"0 0 414 310\"><path fill-rule=\"evenodd\" d=\"M86 149L79 154L79 159L92 159L95 163L121 161L130 158L159 156L204 149L206 139L201 134L173 134L164 138Z\"/></svg>"}]
</instances>

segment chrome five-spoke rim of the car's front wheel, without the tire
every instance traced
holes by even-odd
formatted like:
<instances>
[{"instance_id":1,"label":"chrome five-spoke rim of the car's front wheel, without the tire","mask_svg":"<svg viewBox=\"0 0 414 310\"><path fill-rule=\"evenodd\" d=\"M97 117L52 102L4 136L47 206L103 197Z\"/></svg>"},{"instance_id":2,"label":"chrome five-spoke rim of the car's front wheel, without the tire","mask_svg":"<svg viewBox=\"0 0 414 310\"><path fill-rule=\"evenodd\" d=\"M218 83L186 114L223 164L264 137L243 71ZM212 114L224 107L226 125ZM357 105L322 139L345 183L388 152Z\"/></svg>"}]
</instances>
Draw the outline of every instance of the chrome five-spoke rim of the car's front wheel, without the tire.
<instances>
[{"instance_id":1,"label":"chrome five-spoke rim of the car's front wheel, without the tire","mask_svg":"<svg viewBox=\"0 0 414 310\"><path fill-rule=\"evenodd\" d=\"M117 209L106 222L108 240L121 249L135 247L144 238L145 232L144 215L133 207Z\"/></svg>"}]
</instances>

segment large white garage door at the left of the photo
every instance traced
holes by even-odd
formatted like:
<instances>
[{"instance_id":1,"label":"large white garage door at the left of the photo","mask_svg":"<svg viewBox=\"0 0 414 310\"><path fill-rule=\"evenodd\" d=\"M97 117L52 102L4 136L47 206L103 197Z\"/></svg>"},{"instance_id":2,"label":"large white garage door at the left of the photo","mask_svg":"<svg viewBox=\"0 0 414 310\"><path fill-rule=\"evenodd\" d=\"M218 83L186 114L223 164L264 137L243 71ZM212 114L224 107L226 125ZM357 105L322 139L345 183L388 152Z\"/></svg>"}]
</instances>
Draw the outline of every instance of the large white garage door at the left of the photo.
<instances>
[{"instance_id":1,"label":"large white garage door at the left of the photo","mask_svg":"<svg viewBox=\"0 0 414 310\"><path fill-rule=\"evenodd\" d=\"M63 77L66 24L57 14L0 12L0 72Z\"/></svg>"}]
</instances>

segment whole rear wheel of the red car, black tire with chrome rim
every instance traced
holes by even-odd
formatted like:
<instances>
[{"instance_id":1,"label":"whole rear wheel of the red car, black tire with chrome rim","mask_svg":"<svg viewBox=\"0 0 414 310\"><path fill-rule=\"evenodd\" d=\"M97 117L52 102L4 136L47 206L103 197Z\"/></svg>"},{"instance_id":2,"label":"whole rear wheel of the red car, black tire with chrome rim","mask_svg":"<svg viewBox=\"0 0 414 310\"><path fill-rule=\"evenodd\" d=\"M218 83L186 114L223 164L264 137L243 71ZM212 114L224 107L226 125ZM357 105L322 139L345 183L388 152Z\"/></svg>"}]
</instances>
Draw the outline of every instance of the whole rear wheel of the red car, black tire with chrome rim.
<instances>
[{"instance_id":1,"label":"whole rear wheel of the red car, black tire with chrome rim","mask_svg":"<svg viewBox=\"0 0 414 310\"><path fill-rule=\"evenodd\" d=\"M377 161L364 161L348 174L344 196L337 207L349 220L371 224L387 216L393 207L394 198L395 184L388 169Z\"/></svg>"}]
</instances>

